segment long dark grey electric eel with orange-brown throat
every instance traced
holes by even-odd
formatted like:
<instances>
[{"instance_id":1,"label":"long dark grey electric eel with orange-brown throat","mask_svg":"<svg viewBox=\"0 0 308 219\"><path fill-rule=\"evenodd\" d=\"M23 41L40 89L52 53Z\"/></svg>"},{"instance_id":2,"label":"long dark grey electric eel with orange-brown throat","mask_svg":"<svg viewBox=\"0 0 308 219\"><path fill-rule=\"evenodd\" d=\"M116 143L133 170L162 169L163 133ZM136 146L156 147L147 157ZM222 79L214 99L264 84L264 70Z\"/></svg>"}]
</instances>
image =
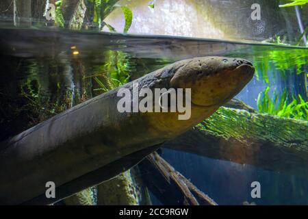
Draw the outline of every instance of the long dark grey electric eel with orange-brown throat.
<instances>
[{"instance_id":1,"label":"long dark grey electric eel with orange-brown throat","mask_svg":"<svg viewBox=\"0 0 308 219\"><path fill-rule=\"evenodd\" d=\"M54 203L115 177L213 114L246 86L254 71L251 62L240 58L181 60L1 142L0 204ZM119 112L118 90L133 92L134 83L139 90L190 88L190 118L179 120L183 113L178 111ZM49 181L55 183L55 198L45 196Z\"/></svg>"}]
</instances>

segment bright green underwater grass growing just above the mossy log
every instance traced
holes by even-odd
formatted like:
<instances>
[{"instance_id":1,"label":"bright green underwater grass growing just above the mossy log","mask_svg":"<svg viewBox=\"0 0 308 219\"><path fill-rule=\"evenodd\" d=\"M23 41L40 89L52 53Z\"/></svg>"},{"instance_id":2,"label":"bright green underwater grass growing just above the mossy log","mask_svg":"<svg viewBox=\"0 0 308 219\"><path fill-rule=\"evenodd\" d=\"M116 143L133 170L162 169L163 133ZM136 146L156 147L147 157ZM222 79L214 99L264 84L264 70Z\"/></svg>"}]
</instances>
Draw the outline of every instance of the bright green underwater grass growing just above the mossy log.
<instances>
[{"instance_id":1,"label":"bright green underwater grass growing just above the mossy log","mask_svg":"<svg viewBox=\"0 0 308 219\"><path fill-rule=\"evenodd\" d=\"M279 97L276 90L271 98L267 87L264 92L260 92L257 98L257 107L259 112L277 115L286 118L296 118L308 120L308 101L304 101L303 97L298 94L298 99L292 96L292 101L288 103L287 92L283 90L283 94Z\"/></svg>"}]
</instances>

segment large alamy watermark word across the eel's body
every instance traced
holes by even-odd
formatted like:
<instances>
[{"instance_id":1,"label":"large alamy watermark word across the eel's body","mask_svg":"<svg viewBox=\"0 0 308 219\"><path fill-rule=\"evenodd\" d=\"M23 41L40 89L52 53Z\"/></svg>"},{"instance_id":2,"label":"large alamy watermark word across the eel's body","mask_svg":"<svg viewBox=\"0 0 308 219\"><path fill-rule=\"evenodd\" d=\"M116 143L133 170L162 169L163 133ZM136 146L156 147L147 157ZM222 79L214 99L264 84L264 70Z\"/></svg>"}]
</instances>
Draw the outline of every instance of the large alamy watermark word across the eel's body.
<instances>
[{"instance_id":1,"label":"large alamy watermark word across the eel's body","mask_svg":"<svg viewBox=\"0 0 308 219\"><path fill-rule=\"evenodd\" d=\"M184 96L185 95L185 96ZM132 92L129 88L120 88L117 96L118 112L179 112L179 120L188 120L191 116L191 89L141 88L133 83ZM140 100L140 97L142 99ZM153 104L154 103L154 104Z\"/></svg>"}]
</instances>

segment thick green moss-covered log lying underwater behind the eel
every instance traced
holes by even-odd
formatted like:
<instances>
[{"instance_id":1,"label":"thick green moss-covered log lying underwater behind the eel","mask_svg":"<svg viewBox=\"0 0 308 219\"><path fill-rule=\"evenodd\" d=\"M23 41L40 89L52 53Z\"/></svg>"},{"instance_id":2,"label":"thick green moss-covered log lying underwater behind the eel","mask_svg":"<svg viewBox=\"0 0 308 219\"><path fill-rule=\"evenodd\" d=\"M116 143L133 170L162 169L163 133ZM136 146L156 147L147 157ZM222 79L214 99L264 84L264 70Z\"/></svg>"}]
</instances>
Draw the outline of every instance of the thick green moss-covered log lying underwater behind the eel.
<instances>
[{"instance_id":1,"label":"thick green moss-covered log lying underwater behind the eel","mask_svg":"<svg viewBox=\"0 0 308 219\"><path fill-rule=\"evenodd\" d=\"M220 107L203 123L164 146L266 170L308 173L305 120Z\"/></svg>"}]
</instances>

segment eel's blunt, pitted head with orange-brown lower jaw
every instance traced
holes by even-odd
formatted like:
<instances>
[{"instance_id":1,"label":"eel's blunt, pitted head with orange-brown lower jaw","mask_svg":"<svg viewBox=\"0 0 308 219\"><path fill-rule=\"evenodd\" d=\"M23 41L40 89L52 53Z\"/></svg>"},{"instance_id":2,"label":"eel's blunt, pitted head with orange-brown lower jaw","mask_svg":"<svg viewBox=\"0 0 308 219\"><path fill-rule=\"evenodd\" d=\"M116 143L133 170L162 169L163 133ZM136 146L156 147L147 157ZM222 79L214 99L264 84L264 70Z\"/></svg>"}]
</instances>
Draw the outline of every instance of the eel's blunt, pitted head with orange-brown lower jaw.
<instances>
[{"instance_id":1,"label":"eel's blunt, pitted head with orange-brown lower jaw","mask_svg":"<svg viewBox=\"0 0 308 219\"><path fill-rule=\"evenodd\" d=\"M251 80L251 62L231 57L195 57L177 69L173 88L191 88L192 105L222 105L238 94Z\"/></svg>"}]
</instances>

